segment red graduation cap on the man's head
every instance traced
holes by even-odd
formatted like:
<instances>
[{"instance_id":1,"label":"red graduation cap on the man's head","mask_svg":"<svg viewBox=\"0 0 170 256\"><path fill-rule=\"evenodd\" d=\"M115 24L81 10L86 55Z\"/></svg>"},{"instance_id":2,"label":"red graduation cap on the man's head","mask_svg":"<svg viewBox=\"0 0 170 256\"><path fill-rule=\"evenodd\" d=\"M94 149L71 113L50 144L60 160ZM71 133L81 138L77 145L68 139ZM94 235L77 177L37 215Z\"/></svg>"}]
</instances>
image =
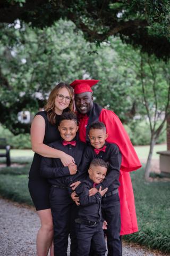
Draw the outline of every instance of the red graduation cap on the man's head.
<instances>
[{"instance_id":1,"label":"red graduation cap on the man's head","mask_svg":"<svg viewBox=\"0 0 170 256\"><path fill-rule=\"evenodd\" d=\"M83 92L92 92L91 87L97 84L99 80L74 80L70 85L74 89L75 94Z\"/></svg>"}]
</instances>

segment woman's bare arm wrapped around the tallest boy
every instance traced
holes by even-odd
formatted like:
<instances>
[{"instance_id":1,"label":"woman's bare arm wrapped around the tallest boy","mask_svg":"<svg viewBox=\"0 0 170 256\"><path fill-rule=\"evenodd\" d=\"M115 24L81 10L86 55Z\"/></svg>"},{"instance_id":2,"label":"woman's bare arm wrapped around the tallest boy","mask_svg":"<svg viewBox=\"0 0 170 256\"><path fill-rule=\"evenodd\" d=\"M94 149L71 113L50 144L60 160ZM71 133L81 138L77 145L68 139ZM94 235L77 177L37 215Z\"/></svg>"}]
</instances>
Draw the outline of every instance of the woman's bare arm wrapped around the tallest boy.
<instances>
[{"instance_id":1,"label":"woman's bare arm wrapped around the tallest boy","mask_svg":"<svg viewBox=\"0 0 170 256\"><path fill-rule=\"evenodd\" d=\"M31 124L31 145L32 150L45 157L60 158L64 166L74 162L74 158L61 150L51 148L43 143L45 135L45 120L42 116L36 115Z\"/></svg>"}]
</instances>

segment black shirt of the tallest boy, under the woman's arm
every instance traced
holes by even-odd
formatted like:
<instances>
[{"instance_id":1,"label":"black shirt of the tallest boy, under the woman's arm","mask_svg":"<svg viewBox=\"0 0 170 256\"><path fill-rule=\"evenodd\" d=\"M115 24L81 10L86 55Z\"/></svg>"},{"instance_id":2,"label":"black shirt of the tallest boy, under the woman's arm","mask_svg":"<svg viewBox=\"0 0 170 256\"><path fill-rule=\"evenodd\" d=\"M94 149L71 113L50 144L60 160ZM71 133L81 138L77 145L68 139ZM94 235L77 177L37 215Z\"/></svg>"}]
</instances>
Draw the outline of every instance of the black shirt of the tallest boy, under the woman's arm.
<instances>
[{"instance_id":1,"label":"black shirt of the tallest boy, under the woman's arm","mask_svg":"<svg viewBox=\"0 0 170 256\"><path fill-rule=\"evenodd\" d=\"M51 185L68 187L70 193L72 192L69 186L74 182L75 179L78 180L79 175L82 174L82 169L79 169L80 163L82 161L82 156L84 149L87 147L86 143L79 140L76 141L76 146L66 145L63 146L63 139L57 140L48 145L49 147L63 151L64 153L74 157L75 164L77 164L78 172L74 175L70 174L69 167L64 166L60 158L49 158L42 157L40 165L40 174L44 178L48 179Z\"/></svg>"}]
</instances>

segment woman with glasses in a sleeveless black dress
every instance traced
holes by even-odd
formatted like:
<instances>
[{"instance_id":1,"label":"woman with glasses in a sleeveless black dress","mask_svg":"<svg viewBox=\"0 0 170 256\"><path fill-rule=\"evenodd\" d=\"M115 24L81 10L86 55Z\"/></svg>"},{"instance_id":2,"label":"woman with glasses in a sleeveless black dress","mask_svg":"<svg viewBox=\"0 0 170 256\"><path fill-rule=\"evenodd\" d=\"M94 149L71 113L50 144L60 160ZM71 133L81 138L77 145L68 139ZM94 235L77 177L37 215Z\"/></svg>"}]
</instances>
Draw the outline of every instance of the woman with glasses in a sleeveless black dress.
<instances>
[{"instance_id":1,"label":"woman with glasses in a sleeveless black dress","mask_svg":"<svg viewBox=\"0 0 170 256\"><path fill-rule=\"evenodd\" d=\"M73 89L70 85L59 83L49 95L45 111L36 114L31 125L31 144L35 151L29 173L29 191L41 221L37 234L37 254L47 256L53 241L53 220L49 205L49 185L40 177L41 156L60 158L63 165L74 162L74 158L63 151L47 146L60 139L57 120L63 111L73 111ZM54 252L51 246L50 256Z\"/></svg>"}]
</instances>

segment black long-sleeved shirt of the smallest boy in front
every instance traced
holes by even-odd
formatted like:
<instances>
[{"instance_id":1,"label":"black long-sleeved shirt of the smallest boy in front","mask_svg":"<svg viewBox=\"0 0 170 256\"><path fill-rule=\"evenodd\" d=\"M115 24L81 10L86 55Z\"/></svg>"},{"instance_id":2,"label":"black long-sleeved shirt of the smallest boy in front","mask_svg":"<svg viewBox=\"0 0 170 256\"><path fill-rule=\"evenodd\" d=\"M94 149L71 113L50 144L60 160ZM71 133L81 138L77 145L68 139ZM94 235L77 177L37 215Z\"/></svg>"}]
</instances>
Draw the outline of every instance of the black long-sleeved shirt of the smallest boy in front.
<instances>
[{"instance_id":1,"label":"black long-sleeved shirt of the smallest boy in front","mask_svg":"<svg viewBox=\"0 0 170 256\"><path fill-rule=\"evenodd\" d=\"M75 189L79 196L80 206L78 218L88 221L101 221L101 195L96 193L94 196L89 196L89 189L92 188L94 182L87 177Z\"/></svg>"}]
</instances>

